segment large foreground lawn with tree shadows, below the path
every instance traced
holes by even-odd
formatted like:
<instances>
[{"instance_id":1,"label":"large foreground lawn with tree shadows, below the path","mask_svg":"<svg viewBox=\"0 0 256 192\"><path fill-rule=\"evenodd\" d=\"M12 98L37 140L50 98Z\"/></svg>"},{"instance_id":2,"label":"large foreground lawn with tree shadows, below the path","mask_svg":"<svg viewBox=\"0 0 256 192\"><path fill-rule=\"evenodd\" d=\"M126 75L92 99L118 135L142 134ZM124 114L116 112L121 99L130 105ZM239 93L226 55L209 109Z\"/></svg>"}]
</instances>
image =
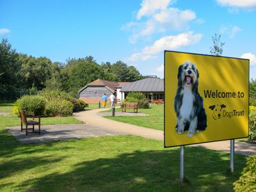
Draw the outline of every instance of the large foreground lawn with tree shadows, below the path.
<instances>
[{"instance_id":1,"label":"large foreground lawn with tree shadows, below the path","mask_svg":"<svg viewBox=\"0 0 256 192\"><path fill-rule=\"evenodd\" d=\"M19 123L0 116L0 191L232 191L245 165L236 155L230 173L229 154L186 147L180 184L179 148L163 148L163 141L108 136L21 144L4 128Z\"/></svg>"}]
</instances>

